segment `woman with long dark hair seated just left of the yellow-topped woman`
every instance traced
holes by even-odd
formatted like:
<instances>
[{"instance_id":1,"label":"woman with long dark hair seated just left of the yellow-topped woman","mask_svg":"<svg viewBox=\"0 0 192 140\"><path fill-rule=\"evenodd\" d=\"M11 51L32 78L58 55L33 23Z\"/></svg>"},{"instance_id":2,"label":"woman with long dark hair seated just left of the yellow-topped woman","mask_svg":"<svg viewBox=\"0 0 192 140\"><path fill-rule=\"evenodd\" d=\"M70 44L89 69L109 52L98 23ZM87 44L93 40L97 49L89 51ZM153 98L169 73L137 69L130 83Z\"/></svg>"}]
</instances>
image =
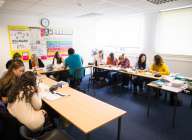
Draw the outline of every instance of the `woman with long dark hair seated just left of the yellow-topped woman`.
<instances>
[{"instance_id":1,"label":"woman with long dark hair seated just left of the yellow-topped woman","mask_svg":"<svg viewBox=\"0 0 192 140\"><path fill-rule=\"evenodd\" d=\"M146 54L140 54L138 61L135 65L135 69L138 71L145 71L147 69L147 56ZM134 93L138 94L137 92L137 86L139 86L139 90L140 92L143 92L143 83L144 83L144 79L142 77L133 77L133 89L134 89Z\"/></svg>"}]
</instances>

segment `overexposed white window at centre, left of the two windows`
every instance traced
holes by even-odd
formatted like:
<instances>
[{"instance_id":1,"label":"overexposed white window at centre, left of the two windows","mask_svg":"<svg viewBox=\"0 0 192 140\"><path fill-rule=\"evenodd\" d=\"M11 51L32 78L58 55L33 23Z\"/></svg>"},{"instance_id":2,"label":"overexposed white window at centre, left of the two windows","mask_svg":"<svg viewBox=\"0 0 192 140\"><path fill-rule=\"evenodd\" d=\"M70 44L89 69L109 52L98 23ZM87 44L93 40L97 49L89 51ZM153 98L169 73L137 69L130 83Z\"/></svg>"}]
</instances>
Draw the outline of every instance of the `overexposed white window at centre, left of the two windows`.
<instances>
[{"instance_id":1,"label":"overexposed white window at centre, left of the two windows","mask_svg":"<svg viewBox=\"0 0 192 140\"><path fill-rule=\"evenodd\" d=\"M143 32L143 15L98 21L96 44L107 53L140 53L143 48Z\"/></svg>"}]
</instances>

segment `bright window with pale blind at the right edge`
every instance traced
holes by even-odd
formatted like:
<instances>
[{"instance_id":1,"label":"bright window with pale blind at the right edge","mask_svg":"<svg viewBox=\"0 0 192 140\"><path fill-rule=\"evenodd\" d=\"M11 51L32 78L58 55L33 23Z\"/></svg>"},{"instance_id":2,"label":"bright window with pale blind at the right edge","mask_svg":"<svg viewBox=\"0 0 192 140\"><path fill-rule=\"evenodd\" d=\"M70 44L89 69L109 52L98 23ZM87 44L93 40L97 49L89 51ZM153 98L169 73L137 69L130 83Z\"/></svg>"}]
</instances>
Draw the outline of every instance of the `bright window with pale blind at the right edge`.
<instances>
[{"instance_id":1,"label":"bright window with pale blind at the right edge","mask_svg":"<svg viewBox=\"0 0 192 140\"><path fill-rule=\"evenodd\" d=\"M192 8L160 12L156 52L192 55Z\"/></svg>"}]
</instances>

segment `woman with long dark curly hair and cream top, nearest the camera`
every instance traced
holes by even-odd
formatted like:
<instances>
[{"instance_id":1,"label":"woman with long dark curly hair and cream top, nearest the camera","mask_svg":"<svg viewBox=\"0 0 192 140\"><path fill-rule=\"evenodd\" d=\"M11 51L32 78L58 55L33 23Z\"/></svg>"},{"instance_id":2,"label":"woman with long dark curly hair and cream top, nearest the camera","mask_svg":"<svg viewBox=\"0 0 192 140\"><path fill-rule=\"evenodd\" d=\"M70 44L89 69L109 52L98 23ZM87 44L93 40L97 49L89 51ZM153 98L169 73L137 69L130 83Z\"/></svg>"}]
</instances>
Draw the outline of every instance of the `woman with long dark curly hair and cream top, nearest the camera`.
<instances>
[{"instance_id":1,"label":"woman with long dark curly hair and cream top, nearest the camera","mask_svg":"<svg viewBox=\"0 0 192 140\"><path fill-rule=\"evenodd\" d=\"M7 109L29 130L38 132L43 128L46 115L41 106L36 76L33 72L25 72L9 92Z\"/></svg>"}]
</instances>

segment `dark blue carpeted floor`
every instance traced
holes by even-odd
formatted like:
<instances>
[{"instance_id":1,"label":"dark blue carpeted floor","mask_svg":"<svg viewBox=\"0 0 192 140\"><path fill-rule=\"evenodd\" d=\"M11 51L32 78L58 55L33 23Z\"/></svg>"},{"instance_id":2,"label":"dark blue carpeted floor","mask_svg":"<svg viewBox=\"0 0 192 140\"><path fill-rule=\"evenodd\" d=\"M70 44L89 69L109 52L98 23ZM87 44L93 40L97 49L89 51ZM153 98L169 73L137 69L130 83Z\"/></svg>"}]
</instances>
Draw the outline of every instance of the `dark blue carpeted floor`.
<instances>
[{"instance_id":1,"label":"dark blue carpeted floor","mask_svg":"<svg viewBox=\"0 0 192 140\"><path fill-rule=\"evenodd\" d=\"M82 88L87 86L87 79ZM89 95L93 96L92 92ZM122 120L121 140L192 140L191 96L180 95L183 105L177 108L176 126L172 128L173 107L163 100L151 100L150 117L147 118L147 99L134 96L128 88L101 88L96 90L96 98L127 111ZM94 120L93 120L94 121ZM75 140L84 140L85 135L70 126L67 132ZM116 140L117 121L113 121L91 133L91 140Z\"/></svg>"}]
</instances>

